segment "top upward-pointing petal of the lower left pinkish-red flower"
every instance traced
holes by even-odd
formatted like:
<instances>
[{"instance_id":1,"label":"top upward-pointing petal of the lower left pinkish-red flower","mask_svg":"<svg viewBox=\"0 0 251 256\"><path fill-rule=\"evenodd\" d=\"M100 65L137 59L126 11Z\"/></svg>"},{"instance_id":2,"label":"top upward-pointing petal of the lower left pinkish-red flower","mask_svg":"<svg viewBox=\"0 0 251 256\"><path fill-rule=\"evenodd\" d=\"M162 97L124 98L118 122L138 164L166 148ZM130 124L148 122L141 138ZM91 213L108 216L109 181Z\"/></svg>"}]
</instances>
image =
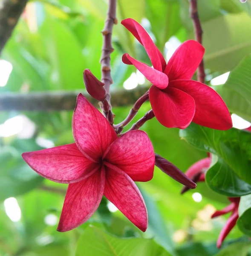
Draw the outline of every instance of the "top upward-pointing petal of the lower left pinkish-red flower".
<instances>
[{"instance_id":1,"label":"top upward-pointing petal of the lower left pinkish-red flower","mask_svg":"<svg viewBox=\"0 0 251 256\"><path fill-rule=\"evenodd\" d=\"M72 130L79 150L98 162L104 151L117 139L107 119L80 93L72 117Z\"/></svg>"}]
</instances>

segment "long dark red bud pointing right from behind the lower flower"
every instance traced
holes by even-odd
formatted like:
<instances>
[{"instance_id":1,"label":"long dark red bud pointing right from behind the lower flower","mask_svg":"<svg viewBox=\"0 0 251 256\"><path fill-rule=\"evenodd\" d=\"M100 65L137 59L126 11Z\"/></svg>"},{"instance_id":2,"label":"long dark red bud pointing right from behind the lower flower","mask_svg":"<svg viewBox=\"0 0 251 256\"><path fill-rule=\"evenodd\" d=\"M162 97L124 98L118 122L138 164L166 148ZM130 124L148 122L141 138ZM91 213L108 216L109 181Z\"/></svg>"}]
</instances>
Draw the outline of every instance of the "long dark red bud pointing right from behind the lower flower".
<instances>
[{"instance_id":1,"label":"long dark red bud pointing right from behind the lower flower","mask_svg":"<svg viewBox=\"0 0 251 256\"><path fill-rule=\"evenodd\" d=\"M155 154L155 165L179 183L188 186L190 189L196 188L196 183L190 180L185 173L158 154Z\"/></svg>"}]
</instances>

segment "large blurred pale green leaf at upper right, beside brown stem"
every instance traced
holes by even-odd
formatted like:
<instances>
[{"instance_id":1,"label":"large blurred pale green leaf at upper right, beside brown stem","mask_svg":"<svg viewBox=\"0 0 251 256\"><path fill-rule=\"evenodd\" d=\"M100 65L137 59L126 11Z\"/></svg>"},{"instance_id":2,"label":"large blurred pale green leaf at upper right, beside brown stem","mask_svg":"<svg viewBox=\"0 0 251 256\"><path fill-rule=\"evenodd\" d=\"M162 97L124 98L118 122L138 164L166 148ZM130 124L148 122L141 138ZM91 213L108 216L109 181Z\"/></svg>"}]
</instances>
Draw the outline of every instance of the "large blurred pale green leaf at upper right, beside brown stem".
<instances>
[{"instance_id":1,"label":"large blurred pale green leaf at upper right, beside brown stem","mask_svg":"<svg viewBox=\"0 0 251 256\"><path fill-rule=\"evenodd\" d=\"M206 68L227 72L251 52L250 23L251 17L243 12L202 23Z\"/></svg>"}]
</instances>

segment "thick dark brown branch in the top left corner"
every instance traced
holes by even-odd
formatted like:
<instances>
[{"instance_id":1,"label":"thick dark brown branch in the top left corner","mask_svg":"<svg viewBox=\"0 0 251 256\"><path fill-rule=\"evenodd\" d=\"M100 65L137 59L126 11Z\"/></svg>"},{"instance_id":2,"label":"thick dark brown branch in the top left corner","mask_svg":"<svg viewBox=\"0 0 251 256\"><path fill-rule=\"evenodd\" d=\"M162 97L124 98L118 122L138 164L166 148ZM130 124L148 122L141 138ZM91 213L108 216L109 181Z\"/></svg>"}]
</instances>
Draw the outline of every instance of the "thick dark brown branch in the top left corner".
<instances>
[{"instance_id":1,"label":"thick dark brown branch in the top left corner","mask_svg":"<svg viewBox=\"0 0 251 256\"><path fill-rule=\"evenodd\" d=\"M0 0L0 54L28 0Z\"/></svg>"}]
</instances>

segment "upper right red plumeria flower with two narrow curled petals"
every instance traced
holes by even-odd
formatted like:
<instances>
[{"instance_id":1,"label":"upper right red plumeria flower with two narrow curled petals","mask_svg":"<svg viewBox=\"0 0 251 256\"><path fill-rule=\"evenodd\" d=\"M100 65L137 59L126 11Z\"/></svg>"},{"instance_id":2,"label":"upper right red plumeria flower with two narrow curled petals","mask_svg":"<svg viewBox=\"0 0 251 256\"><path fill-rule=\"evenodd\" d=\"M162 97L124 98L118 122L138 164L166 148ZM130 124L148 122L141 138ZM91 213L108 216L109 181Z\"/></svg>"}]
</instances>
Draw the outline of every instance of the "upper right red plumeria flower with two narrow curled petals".
<instances>
[{"instance_id":1,"label":"upper right red plumeria flower with two narrow curled petals","mask_svg":"<svg viewBox=\"0 0 251 256\"><path fill-rule=\"evenodd\" d=\"M232 127L230 113L219 94L206 84L190 80L205 52L201 44L193 40L184 42L166 64L150 35L138 22L126 19L121 23L144 46L153 64L151 68L127 53L122 57L125 64L133 64L153 84L149 99L162 125L183 129L193 121L219 130Z\"/></svg>"}]
</instances>

